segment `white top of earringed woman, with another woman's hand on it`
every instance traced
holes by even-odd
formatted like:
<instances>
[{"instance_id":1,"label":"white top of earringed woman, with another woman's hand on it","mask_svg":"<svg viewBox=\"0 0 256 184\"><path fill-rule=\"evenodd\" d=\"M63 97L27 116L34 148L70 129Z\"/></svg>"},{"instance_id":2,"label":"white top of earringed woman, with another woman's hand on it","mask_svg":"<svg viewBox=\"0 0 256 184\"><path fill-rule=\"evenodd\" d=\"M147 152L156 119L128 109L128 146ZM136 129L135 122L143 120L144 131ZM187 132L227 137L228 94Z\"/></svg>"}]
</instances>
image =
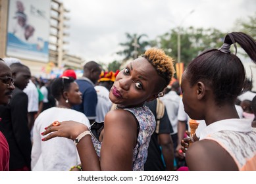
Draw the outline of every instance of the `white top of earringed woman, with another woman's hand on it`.
<instances>
[{"instance_id":1,"label":"white top of earringed woman, with another woman's hand on it","mask_svg":"<svg viewBox=\"0 0 256 184\"><path fill-rule=\"evenodd\" d=\"M41 141L45 127L54 121L74 120L90 127L88 118L70 108L52 107L44 110L35 120L33 128L33 145L31 168L36 171L68 171L72 166L80 164L76 146L71 139L55 137L49 141Z\"/></svg>"}]
</instances>

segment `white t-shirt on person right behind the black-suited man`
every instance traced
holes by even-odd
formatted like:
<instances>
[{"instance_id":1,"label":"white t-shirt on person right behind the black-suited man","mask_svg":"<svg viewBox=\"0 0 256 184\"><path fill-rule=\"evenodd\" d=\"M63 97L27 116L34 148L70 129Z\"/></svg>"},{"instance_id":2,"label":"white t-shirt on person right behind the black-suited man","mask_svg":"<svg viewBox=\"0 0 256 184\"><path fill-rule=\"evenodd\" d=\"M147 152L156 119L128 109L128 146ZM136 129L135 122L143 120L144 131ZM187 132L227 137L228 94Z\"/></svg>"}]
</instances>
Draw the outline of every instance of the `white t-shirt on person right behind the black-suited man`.
<instances>
[{"instance_id":1,"label":"white t-shirt on person right behind the black-suited man","mask_svg":"<svg viewBox=\"0 0 256 184\"><path fill-rule=\"evenodd\" d=\"M28 112L38 112L38 89L32 80L23 91L28 95Z\"/></svg>"}]
</instances>

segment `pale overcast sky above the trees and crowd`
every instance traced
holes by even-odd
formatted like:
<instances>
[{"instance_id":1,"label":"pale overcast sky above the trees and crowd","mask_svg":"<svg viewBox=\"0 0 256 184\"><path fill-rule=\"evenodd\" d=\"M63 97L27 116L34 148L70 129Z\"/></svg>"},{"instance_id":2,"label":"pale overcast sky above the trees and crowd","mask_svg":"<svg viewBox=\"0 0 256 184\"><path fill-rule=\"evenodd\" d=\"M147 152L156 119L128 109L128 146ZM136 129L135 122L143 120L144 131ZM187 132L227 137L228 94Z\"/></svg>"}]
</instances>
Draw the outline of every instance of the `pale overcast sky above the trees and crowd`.
<instances>
[{"instance_id":1,"label":"pale overcast sky above the trees and crowd","mask_svg":"<svg viewBox=\"0 0 256 184\"><path fill-rule=\"evenodd\" d=\"M70 12L71 55L112 62L119 59L118 44L125 33L147 34L149 39L177 26L217 28L232 32L238 18L255 15L255 0L63 0ZM181 24L181 25L180 25Z\"/></svg>"}]
</instances>

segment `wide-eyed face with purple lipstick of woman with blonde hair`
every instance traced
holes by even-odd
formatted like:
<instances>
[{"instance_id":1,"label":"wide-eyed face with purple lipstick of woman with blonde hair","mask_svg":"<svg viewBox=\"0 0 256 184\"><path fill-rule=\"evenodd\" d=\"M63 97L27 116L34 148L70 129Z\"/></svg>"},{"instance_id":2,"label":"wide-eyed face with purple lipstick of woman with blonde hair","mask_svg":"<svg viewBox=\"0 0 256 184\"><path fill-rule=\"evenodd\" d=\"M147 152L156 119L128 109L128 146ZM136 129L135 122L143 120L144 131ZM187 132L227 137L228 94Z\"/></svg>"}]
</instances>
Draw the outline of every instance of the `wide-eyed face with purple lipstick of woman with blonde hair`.
<instances>
[{"instance_id":1,"label":"wide-eyed face with purple lipstick of woman with blonde hair","mask_svg":"<svg viewBox=\"0 0 256 184\"><path fill-rule=\"evenodd\" d=\"M118 106L141 106L157 97L156 87L163 79L145 58L137 58L118 73L109 99Z\"/></svg>"}]
</instances>

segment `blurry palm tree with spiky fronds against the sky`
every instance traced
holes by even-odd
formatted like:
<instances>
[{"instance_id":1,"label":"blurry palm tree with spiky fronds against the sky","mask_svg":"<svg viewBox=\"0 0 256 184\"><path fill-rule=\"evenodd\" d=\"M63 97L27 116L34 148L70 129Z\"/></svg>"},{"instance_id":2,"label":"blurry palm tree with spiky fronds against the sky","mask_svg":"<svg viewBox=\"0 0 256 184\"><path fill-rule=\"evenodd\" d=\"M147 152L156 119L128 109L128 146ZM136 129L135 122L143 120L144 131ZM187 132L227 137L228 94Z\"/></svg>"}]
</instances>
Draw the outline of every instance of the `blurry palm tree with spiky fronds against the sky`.
<instances>
[{"instance_id":1,"label":"blurry palm tree with spiky fronds against the sky","mask_svg":"<svg viewBox=\"0 0 256 184\"><path fill-rule=\"evenodd\" d=\"M124 61L130 58L137 58L139 55L145 52L145 47L149 45L149 41L141 41L141 37L147 37L146 34L128 34L126 33L128 41L126 43L120 43L124 50L117 52L118 55L124 55Z\"/></svg>"}]
</instances>

